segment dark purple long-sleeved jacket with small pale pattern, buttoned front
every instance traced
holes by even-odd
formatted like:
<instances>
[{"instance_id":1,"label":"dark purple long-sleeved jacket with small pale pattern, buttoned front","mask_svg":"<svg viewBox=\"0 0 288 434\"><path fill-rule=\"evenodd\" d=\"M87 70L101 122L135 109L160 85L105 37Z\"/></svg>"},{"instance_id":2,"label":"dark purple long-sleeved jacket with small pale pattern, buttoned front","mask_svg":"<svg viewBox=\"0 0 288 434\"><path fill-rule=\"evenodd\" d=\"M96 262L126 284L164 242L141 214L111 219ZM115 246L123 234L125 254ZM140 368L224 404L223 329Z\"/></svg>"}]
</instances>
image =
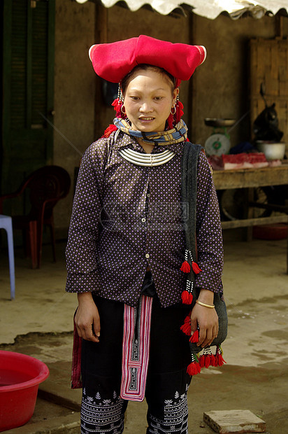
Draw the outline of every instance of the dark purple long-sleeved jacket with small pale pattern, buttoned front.
<instances>
[{"instance_id":1,"label":"dark purple long-sleeved jacket with small pale pattern, buttoned front","mask_svg":"<svg viewBox=\"0 0 288 434\"><path fill-rule=\"evenodd\" d=\"M183 144L154 146L175 157L164 165L143 167L124 160L119 150L143 152L120 133L94 142L82 158L66 247L68 292L97 291L101 297L135 306L147 266L162 306L180 302L185 274L181 204ZM196 286L222 293L222 228L213 176L201 153L197 174Z\"/></svg>"}]
</instances>

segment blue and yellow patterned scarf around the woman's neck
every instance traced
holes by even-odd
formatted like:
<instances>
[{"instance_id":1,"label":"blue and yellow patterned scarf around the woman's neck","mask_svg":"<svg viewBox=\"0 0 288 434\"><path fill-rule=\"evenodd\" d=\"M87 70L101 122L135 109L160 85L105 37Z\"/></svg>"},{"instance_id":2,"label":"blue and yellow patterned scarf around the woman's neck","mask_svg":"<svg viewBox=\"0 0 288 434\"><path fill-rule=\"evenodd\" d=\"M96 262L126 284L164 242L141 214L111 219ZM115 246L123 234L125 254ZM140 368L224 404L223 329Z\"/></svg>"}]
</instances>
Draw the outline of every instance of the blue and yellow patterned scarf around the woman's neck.
<instances>
[{"instance_id":1,"label":"blue and yellow patterned scarf around the woman's neck","mask_svg":"<svg viewBox=\"0 0 288 434\"><path fill-rule=\"evenodd\" d=\"M113 122L118 130L121 130L130 136L141 139L147 144L173 145L178 144L181 141L186 141L187 139L188 128L182 119L172 130L161 132L142 132L132 130L131 125L127 122L127 120L121 118L115 118Z\"/></svg>"}]
</instances>

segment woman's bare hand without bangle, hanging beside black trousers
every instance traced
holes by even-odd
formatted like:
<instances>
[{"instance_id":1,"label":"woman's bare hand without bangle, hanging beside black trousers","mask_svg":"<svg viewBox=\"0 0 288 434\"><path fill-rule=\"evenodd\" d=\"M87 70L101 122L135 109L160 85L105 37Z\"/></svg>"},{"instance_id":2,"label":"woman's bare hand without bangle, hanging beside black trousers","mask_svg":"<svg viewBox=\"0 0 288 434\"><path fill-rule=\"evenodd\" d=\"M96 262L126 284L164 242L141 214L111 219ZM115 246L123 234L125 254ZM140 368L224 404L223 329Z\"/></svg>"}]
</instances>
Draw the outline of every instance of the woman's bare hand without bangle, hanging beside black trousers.
<instances>
[{"instance_id":1,"label":"woman's bare hand without bangle, hanging beside black trousers","mask_svg":"<svg viewBox=\"0 0 288 434\"><path fill-rule=\"evenodd\" d=\"M100 317L92 293L78 293L75 325L79 337L87 341L99 342Z\"/></svg>"}]
</instances>

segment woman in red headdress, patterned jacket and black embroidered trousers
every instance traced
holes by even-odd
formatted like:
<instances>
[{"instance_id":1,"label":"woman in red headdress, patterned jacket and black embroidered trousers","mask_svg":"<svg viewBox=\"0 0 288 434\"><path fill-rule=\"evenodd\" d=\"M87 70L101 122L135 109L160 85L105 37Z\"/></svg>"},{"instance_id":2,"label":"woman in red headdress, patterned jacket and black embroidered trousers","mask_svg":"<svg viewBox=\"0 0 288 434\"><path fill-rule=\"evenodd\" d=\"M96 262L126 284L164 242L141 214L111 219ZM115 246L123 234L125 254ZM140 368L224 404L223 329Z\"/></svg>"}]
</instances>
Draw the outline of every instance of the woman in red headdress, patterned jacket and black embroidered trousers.
<instances>
[{"instance_id":1,"label":"woman in red headdress, patterned jacket and black embroidered trousers","mask_svg":"<svg viewBox=\"0 0 288 434\"><path fill-rule=\"evenodd\" d=\"M199 351L210 345L218 333L213 297L222 293L221 224L203 153L193 309L180 270L194 258L185 256L179 85L206 51L141 35L93 45L89 55L99 76L120 83L120 94L114 125L82 158L66 248L66 290L78 293L82 338L81 432L122 433L128 400L145 397L147 433L187 433L191 354L180 328L188 316Z\"/></svg>"}]
</instances>

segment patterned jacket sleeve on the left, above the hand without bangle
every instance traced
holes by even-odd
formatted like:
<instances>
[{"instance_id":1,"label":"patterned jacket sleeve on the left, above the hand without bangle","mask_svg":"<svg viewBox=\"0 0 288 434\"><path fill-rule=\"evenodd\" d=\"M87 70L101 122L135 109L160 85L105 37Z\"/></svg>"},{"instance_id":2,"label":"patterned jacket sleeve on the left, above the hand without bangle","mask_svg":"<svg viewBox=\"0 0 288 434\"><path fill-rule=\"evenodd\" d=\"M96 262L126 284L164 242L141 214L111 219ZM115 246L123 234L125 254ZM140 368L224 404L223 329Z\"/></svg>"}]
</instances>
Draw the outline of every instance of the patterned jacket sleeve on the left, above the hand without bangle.
<instances>
[{"instance_id":1,"label":"patterned jacket sleeve on the left, above the hand without bangle","mask_svg":"<svg viewBox=\"0 0 288 434\"><path fill-rule=\"evenodd\" d=\"M96 242L99 237L107 139L99 139L82 157L66 246L66 291L83 293L99 287Z\"/></svg>"}]
</instances>

